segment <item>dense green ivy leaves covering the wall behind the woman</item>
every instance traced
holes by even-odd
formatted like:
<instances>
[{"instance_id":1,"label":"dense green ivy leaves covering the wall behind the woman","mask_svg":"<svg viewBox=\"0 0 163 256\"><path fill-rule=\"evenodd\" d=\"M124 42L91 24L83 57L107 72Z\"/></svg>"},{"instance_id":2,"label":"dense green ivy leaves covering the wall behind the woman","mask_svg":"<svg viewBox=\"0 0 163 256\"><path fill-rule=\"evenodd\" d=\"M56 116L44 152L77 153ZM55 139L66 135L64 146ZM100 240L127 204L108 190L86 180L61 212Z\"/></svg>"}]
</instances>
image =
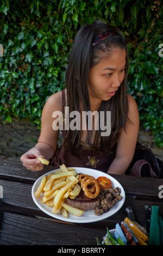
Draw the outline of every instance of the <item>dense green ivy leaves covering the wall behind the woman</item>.
<instances>
[{"instance_id":1,"label":"dense green ivy leaves covering the wall behind the woman","mask_svg":"<svg viewBox=\"0 0 163 256\"><path fill-rule=\"evenodd\" d=\"M101 19L128 42L128 92L141 124L163 147L163 6L153 0L2 0L0 4L0 113L4 121L29 118L40 125L47 98L64 88L74 36ZM161 52L163 53L163 52Z\"/></svg>"}]
</instances>

